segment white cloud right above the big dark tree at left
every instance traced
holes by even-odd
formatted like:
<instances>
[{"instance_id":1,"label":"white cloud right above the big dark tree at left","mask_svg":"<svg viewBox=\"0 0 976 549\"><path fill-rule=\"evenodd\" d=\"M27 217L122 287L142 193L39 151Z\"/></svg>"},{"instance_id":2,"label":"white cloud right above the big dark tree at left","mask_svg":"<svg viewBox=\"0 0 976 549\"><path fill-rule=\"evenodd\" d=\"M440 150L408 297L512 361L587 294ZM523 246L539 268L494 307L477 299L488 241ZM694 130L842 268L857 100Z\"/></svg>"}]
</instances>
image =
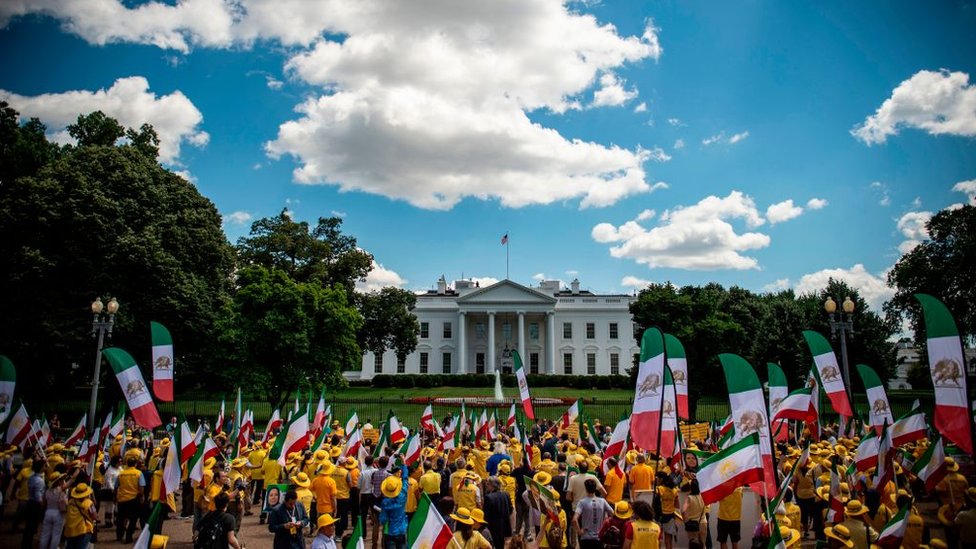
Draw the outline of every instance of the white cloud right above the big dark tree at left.
<instances>
[{"instance_id":1,"label":"white cloud right above the big dark tree at left","mask_svg":"<svg viewBox=\"0 0 976 549\"><path fill-rule=\"evenodd\" d=\"M74 90L34 96L0 90L0 98L20 111L21 116L40 118L52 139L60 143L73 141L66 126L76 122L78 115L96 110L130 128L152 124L159 135L159 160L167 164L178 164L180 146L184 142L203 147L210 140L207 132L200 129L203 115L183 92L177 90L157 96L149 91L149 82L142 76L119 78L107 90Z\"/></svg>"}]
</instances>

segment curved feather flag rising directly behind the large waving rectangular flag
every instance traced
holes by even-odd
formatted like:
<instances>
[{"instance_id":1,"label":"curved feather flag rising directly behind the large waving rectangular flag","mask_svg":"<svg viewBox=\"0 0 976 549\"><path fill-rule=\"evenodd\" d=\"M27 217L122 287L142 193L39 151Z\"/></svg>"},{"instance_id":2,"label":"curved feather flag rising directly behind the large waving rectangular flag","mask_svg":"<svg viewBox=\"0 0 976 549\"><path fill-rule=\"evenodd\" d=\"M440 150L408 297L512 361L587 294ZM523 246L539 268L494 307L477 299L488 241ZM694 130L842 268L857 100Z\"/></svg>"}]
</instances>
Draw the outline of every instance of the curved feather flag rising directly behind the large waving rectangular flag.
<instances>
[{"instance_id":1,"label":"curved feather flag rising directly behind the large waving rectangular flag","mask_svg":"<svg viewBox=\"0 0 976 549\"><path fill-rule=\"evenodd\" d=\"M757 494L776 495L776 466L773 462L773 446L766 418L766 398L762 385L752 366L739 355L724 353L718 355L725 370L725 383L729 388L729 404L735 420L735 438L741 440L755 433L759 437L759 451L762 454L763 480L752 487Z\"/></svg>"}]
</instances>

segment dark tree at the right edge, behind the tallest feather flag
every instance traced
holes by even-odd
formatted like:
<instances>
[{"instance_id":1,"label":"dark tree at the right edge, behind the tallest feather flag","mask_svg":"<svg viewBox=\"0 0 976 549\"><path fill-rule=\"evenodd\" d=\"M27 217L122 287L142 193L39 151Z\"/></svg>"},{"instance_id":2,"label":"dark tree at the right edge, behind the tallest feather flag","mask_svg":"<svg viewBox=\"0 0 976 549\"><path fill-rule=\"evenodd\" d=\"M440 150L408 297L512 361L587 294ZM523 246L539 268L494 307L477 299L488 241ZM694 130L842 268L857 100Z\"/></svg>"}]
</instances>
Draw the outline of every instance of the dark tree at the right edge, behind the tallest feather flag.
<instances>
[{"instance_id":1,"label":"dark tree at the right edge, behind the tallest feather flag","mask_svg":"<svg viewBox=\"0 0 976 549\"><path fill-rule=\"evenodd\" d=\"M913 297L931 294L941 299L964 339L976 337L976 206L942 210L926 224L929 238L903 255L888 273L895 295L885 305L888 320L900 324L905 316L924 352L925 329L921 308Z\"/></svg>"}]
</instances>

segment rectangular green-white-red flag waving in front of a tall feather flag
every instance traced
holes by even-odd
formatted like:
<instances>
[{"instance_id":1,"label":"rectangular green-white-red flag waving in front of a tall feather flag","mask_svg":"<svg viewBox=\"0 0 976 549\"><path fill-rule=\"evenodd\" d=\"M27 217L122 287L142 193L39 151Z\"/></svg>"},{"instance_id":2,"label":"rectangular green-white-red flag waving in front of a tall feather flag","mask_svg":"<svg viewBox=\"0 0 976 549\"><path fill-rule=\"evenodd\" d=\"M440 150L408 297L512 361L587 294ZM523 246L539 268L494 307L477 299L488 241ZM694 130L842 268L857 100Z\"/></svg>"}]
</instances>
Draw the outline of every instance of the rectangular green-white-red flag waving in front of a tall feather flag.
<instances>
[{"instance_id":1,"label":"rectangular green-white-red flag waving in front of a tall feather flag","mask_svg":"<svg viewBox=\"0 0 976 549\"><path fill-rule=\"evenodd\" d=\"M715 503L736 488L763 480L759 434L751 435L702 462L697 473L705 505ZM775 485L775 479L773 480Z\"/></svg>"}]
</instances>

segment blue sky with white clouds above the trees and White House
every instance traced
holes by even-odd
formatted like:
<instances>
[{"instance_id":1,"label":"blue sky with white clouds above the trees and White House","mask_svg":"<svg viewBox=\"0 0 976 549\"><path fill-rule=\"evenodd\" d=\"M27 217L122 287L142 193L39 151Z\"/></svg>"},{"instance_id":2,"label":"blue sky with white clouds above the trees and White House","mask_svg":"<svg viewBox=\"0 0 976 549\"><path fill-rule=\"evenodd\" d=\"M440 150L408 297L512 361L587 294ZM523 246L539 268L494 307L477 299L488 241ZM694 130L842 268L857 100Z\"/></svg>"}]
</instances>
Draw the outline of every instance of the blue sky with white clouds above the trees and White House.
<instances>
[{"instance_id":1,"label":"blue sky with white clouds above the trees and White House","mask_svg":"<svg viewBox=\"0 0 976 549\"><path fill-rule=\"evenodd\" d=\"M149 121L231 241L341 215L373 285L504 278L508 232L524 284L833 275L877 306L976 194L972 2L41 0L0 26L0 97L54 138Z\"/></svg>"}]
</instances>

